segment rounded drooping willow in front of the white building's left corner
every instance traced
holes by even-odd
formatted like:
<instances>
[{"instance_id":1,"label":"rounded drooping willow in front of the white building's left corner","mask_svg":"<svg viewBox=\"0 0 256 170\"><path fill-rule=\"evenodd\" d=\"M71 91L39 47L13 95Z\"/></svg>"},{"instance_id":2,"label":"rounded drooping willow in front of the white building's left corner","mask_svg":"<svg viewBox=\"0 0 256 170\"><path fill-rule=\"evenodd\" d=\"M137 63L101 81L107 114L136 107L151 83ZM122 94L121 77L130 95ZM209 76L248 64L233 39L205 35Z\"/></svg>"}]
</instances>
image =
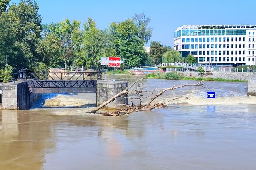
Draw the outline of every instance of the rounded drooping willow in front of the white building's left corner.
<instances>
[{"instance_id":1,"label":"rounded drooping willow in front of the white building's left corner","mask_svg":"<svg viewBox=\"0 0 256 170\"><path fill-rule=\"evenodd\" d=\"M175 63L175 62L184 62L184 59L181 57L180 52L176 50L168 50L162 58L162 63Z\"/></svg>"}]
</instances>

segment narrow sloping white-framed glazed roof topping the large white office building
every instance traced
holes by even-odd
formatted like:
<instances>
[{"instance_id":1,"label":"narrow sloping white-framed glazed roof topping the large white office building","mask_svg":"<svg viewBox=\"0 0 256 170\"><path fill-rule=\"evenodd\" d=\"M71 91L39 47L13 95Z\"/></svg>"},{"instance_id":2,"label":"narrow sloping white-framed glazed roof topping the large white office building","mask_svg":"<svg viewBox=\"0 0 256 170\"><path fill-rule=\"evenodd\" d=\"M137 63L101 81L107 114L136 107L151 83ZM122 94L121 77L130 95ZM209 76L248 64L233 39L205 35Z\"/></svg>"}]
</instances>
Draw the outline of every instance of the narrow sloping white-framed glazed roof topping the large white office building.
<instances>
[{"instance_id":1,"label":"narrow sloping white-framed glazed roof topping the large white office building","mask_svg":"<svg viewBox=\"0 0 256 170\"><path fill-rule=\"evenodd\" d=\"M234 28L256 28L256 25L182 25L177 28L179 30L189 30L189 29L234 29ZM176 32L175 31L175 32Z\"/></svg>"}]
</instances>

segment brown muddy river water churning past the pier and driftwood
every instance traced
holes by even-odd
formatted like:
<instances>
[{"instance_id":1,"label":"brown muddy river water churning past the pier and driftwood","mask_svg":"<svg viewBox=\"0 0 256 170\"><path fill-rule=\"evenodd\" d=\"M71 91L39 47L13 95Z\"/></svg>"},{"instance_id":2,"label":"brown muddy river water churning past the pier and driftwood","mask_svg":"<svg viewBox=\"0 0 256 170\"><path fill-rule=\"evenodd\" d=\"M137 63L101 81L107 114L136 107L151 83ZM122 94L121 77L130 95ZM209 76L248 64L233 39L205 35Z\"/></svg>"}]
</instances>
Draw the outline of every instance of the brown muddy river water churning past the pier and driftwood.
<instances>
[{"instance_id":1,"label":"brown muddy river water churning past the pier and driftwood","mask_svg":"<svg viewBox=\"0 0 256 170\"><path fill-rule=\"evenodd\" d=\"M184 83L195 82L146 80L142 88ZM93 93L43 95L30 110L0 111L0 169L253 170L256 97L246 86L185 87L159 100L190 100L121 117L84 113L95 107Z\"/></svg>"}]
</instances>

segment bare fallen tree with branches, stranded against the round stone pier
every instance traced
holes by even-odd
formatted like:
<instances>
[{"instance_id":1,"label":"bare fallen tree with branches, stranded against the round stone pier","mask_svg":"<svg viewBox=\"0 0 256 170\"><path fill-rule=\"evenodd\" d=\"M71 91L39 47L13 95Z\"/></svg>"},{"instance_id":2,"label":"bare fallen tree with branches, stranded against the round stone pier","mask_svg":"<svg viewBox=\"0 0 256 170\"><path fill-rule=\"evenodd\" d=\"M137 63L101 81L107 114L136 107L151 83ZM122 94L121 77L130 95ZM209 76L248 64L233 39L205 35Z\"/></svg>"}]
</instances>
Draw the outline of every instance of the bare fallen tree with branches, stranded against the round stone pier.
<instances>
[{"instance_id":1,"label":"bare fallen tree with branches, stranded against the round stone pier","mask_svg":"<svg viewBox=\"0 0 256 170\"><path fill-rule=\"evenodd\" d=\"M103 115L119 116L119 115L130 114L130 113L135 112L135 111L152 110L154 108L163 108L163 107L166 107L168 105L168 103L172 100L177 100L177 99L180 99L180 98L184 98L184 97L172 98L172 99L170 99L166 102L162 102L162 103L155 102L155 99L160 97L161 95L163 95L163 93L165 93L166 91L170 91L170 90L173 91L177 88L182 88L182 87L185 87L185 86L201 86L201 87L204 87L204 83L202 83L202 82L204 82L204 80L203 80L203 81L201 81L199 83L196 83L196 84L184 84L184 85L180 85L180 86L173 85L172 87L165 88L165 89L162 89L162 90L154 89L154 90L151 90L151 91L147 91L147 90L141 90L140 89L141 85L144 83L143 82L144 79L145 78L141 78L139 80L136 80L135 82L133 82L132 85L123 89L120 93L116 94L115 96L113 96L108 101L99 105L94 110L91 110L89 113L96 113L99 109L105 107L106 105L108 105L108 103L113 102L116 98L129 96L131 94L133 94L134 96L133 97L125 97L125 98L129 98L131 100L130 105L118 104L118 105L123 105L124 107L120 108L120 109L117 109L115 112L103 113ZM204 87L204 88L207 88L207 87ZM145 95L143 95L143 92L149 92L150 95L145 97ZM158 93L153 95L154 92L158 92ZM146 104L142 104L143 99L148 99ZM186 99L189 99L189 98L186 98ZM140 100L140 104L133 104L133 100Z\"/></svg>"}]
</instances>

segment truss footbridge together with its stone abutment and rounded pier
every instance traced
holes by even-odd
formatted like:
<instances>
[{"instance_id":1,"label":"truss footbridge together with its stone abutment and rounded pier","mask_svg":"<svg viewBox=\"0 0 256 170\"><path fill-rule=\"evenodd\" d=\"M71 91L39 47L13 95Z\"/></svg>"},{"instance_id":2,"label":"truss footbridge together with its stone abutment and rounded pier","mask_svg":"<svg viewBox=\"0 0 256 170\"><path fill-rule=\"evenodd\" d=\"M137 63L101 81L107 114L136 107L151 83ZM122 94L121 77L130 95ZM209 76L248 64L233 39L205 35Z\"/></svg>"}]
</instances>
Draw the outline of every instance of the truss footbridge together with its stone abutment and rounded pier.
<instances>
[{"instance_id":1,"label":"truss footbridge together with its stone abutment and rounded pier","mask_svg":"<svg viewBox=\"0 0 256 170\"><path fill-rule=\"evenodd\" d=\"M98 72L24 72L16 83L0 84L1 108L27 110L42 93L97 93L97 105L127 87L127 82L101 80ZM127 104L127 98L116 98L109 107Z\"/></svg>"}]
</instances>

